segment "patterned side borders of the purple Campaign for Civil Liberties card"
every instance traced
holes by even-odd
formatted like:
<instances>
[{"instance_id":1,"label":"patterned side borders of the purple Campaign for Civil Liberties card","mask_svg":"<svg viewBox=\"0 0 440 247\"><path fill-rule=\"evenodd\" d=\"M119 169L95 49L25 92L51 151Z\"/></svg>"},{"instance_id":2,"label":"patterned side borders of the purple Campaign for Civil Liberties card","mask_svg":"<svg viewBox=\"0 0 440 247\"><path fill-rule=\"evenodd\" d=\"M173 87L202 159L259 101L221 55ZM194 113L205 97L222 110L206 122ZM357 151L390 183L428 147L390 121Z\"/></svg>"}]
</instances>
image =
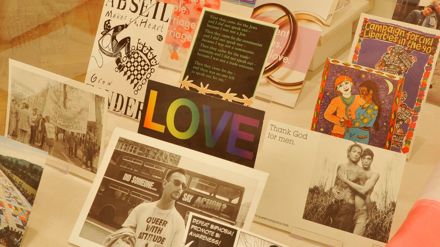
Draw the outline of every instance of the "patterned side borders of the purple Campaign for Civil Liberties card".
<instances>
[{"instance_id":1,"label":"patterned side borders of the purple Campaign for Civil Liberties card","mask_svg":"<svg viewBox=\"0 0 440 247\"><path fill-rule=\"evenodd\" d=\"M364 29L365 29L365 24L366 24L365 21L368 21L368 18L363 18L363 19L364 19L364 21L362 23L362 29L359 33L358 43L356 44L355 51L353 54L353 60L352 60L353 64L357 64L357 61L359 58L358 57L359 50L361 47L363 33L364 33ZM439 39L440 36L436 36L436 38ZM436 44L436 47L438 47L438 44ZM437 50L437 48L436 48L436 50ZM434 51L434 54L437 52L436 50ZM412 137L414 136L415 124L418 119L418 113L420 112L420 108L422 107L422 102L425 98L426 87L428 86L427 82L429 79L429 75L433 69L433 60L434 60L434 55L431 54L431 55L429 55L428 62L425 64L425 73L423 73L422 80L420 81L420 86L419 86L419 90L418 90L418 97L417 97L416 103L414 105L414 113L411 116L411 121L409 122L410 125L408 126L408 131L406 133L405 140L403 140L403 147L401 148L401 151L403 154L406 154L410 150L411 140L412 140Z\"/></svg>"}]
</instances>

